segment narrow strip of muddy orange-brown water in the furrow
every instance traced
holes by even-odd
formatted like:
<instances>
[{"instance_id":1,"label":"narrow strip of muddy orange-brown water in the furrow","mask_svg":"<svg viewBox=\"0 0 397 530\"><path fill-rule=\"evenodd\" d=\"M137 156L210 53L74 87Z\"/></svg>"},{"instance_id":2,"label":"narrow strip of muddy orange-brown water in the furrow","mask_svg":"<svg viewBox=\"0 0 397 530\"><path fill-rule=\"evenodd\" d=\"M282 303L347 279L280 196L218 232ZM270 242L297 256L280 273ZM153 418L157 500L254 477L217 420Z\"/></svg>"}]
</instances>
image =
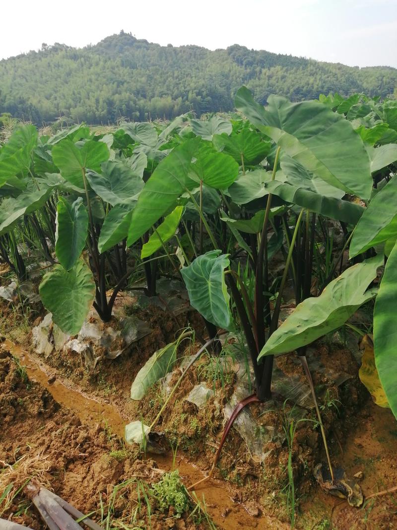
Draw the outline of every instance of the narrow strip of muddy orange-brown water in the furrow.
<instances>
[{"instance_id":1,"label":"narrow strip of muddy orange-brown water in the furrow","mask_svg":"<svg viewBox=\"0 0 397 530\"><path fill-rule=\"evenodd\" d=\"M21 365L26 368L26 373L32 381L47 388L59 404L75 412L82 422L94 425L95 423L106 422L113 432L123 437L124 425L129 420L122 418L112 405L102 403L84 392L78 391L76 385L65 379L58 379L55 369L49 368L40 359L34 358L13 342L6 340L5 346L20 359ZM148 457L155 460L161 469L167 471L174 469L172 453L167 455L148 454ZM179 470L186 487L204 478L204 474L199 469L178 455L175 467ZM205 481L197 487L196 496L201 502L203 502L204 497L207 512L218 528L225 530L287 528L283 523L267 516L252 517L249 515L242 504L232 500L232 493L225 489L221 482Z\"/></svg>"}]
</instances>

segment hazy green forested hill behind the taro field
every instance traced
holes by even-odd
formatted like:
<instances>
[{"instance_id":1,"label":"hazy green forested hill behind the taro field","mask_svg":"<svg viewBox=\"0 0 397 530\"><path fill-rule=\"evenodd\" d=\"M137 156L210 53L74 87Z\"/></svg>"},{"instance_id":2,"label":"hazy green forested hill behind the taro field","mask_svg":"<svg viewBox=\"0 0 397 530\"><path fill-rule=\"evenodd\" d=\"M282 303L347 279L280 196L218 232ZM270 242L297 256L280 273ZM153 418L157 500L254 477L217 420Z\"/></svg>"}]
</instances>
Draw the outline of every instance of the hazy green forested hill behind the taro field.
<instances>
[{"instance_id":1,"label":"hazy green forested hill behind the taro field","mask_svg":"<svg viewBox=\"0 0 397 530\"><path fill-rule=\"evenodd\" d=\"M56 43L0 61L0 114L41 125L59 116L87 123L172 118L188 110L229 111L245 84L265 103L319 94L393 93L397 69L348 67L249 50L160 46L123 31L82 49ZM396 90L397 92L397 90Z\"/></svg>"}]
</instances>

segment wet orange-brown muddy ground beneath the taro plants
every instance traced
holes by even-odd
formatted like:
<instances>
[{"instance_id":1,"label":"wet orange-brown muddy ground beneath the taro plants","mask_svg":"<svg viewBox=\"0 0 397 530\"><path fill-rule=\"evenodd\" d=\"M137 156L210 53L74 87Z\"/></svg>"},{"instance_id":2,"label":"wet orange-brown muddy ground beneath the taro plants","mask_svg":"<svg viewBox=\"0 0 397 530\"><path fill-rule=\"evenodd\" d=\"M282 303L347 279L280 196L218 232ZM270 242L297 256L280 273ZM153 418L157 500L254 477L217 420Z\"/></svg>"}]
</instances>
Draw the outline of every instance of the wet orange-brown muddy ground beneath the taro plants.
<instances>
[{"instance_id":1,"label":"wet orange-brown muddy ground beneath the taro plants","mask_svg":"<svg viewBox=\"0 0 397 530\"><path fill-rule=\"evenodd\" d=\"M97 510L100 493L107 499L112 487L134 474L145 475L142 480L150 482L157 480L158 476L154 474L161 472L153 470L170 470L175 464L186 486L193 484L209 472L222 435L224 420L219 408L230 399L236 375L233 366L223 370L222 377L214 374L213 360L203 356L160 418L157 430L164 434L161 439L164 454L145 457L136 449L125 447L120 438L124 424L143 419L149 425L164 399L162 387L158 384L141 402L131 401L131 382L150 355L174 340L181 328L180 321L158 307L147 308L140 312L140 317L152 324L154 332L135 343L127 354L114 360L103 359L90 372L76 355L54 353L46 359L38 358L30 347L29 329L23 333L19 328L11 335L14 340L17 338L23 342L25 351L6 342L6 349L13 351L21 364L27 366L29 377L42 386L29 385L28 390L23 383L13 389L13 404L10 406L14 412L11 409L5 418L3 414L1 416L2 422L6 422L4 430L3 426L0 430L0 458L12 464L26 454L26 447L33 457L42 455L47 458L49 468L45 476L49 485L83 512ZM194 321L195 327L204 333L197 315L190 313L184 318L182 324ZM182 359L198 347L194 344L181 348L179 357ZM305 421L297 428L292 446L295 526L319 530L397 528L395 493L394 496L384 494L366 499L377 491L397 485L397 423L389 410L372 404L358 380L357 361L348 349L340 344L319 344L316 348L316 355L324 366L332 366L349 376L342 384L336 385L324 374L313 374L331 460L334 465L344 467L349 478L363 472L356 480L364 493L364 505L351 507L346 500L329 496L320 489L313 470L319 462L325 462L322 441L318 425L314 423L313 410L302 410L299 418L303 417ZM6 357L5 364L10 362ZM304 381L302 368L292 357L281 358L279 366L284 373L299 376ZM14 372L8 369L7 378L15 378L15 375L9 375ZM172 379L169 384L173 382ZM186 394L198 382L205 382L215 389L215 396L203 409L185 400ZM9 389L8 397L4 397L7 388L4 384L0 387L2 403L10 399ZM30 404L24 409L21 401L26 400ZM269 453L266 461L259 462L250 454L238 432L232 429L213 479L197 488L196 494L199 499L204 494L207 511L218 528L289 528L288 446L283 439L283 427L286 418L294 417L292 411L295 409L290 403L284 405L280 398L265 415L258 405L252 405L250 410L261 428L272 425L279 434L278 439L269 442L264 449ZM80 447L84 450L80 451ZM110 456L114 452L118 458ZM139 473L136 469L140 470ZM76 484L79 484L77 488ZM133 488L136 491L136 484ZM133 493L131 496L134 498ZM145 506L141 508L140 524L149 527L145 509ZM128 505L124 511L122 509L121 517L131 517L131 513L132 507ZM168 515L157 514L150 524L155 521L158 528L170 528ZM30 517L32 520L26 519L25 524L40 528L38 519ZM180 526L175 527L189 528L192 523L187 517L185 514L177 521ZM17 518L13 520L20 522ZM207 523L196 522L192 527L199 527L199 524Z\"/></svg>"}]
</instances>

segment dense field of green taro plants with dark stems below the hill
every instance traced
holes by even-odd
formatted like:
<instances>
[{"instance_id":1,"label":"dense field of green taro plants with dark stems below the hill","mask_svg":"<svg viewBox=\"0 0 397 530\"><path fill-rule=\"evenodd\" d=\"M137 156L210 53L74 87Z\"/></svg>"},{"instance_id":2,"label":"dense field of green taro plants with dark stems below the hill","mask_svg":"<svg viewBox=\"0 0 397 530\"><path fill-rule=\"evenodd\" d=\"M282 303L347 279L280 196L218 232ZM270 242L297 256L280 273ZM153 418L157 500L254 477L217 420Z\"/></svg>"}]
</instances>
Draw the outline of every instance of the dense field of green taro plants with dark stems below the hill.
<instances>
[{"instance_id":1,"label":"dense field of green taro plants with dark stems below the hill","mask_svg":"<svg viewBox=\"0 0 397 530\"><path fill-rule=\"evenodd\" d=\"M92 306L109 321L137 271L149 296L161 275L183 280L210 340L245 337L255 394L238 410L270 398L275 355L295 352L310 382L305 347L375 299L375 364L397 415L397 101L262 107L242 87L235 104L232 119L106 134L17 127L0 149L1 260L23 280L26 251L41 256L42 303L72 335Z\"/></svg>"}]
</instances>

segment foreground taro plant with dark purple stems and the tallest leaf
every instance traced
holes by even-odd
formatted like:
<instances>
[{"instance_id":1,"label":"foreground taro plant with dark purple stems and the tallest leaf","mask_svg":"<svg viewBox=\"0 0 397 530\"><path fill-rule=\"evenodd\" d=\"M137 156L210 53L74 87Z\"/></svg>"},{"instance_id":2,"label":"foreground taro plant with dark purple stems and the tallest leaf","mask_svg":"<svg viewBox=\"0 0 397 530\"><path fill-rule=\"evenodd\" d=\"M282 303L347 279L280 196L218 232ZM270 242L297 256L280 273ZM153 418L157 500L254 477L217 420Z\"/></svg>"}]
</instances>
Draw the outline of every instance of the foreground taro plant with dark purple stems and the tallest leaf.
<instances>
[{"instance_id":1,"label":"foreground taro plant with dark purple stems and the tallest leaf","mask_svg":"<svg viewBox=\"0 0 397 530\"><path fill-rule=\"evenodd\" d=\"M308 304L304 319L314 321L317 334L303 333L305 340L293 345L285 342L283 353L299 349L315 401L304 347L375 295L367 287L380 264L369 259L333 280L364 212L349 196L368 200L373 185L366 148L351 123L320 102L293 104L271 96L268 103L266 108L257 104L243 87L236 107L249 121L223 124L221 134L213 134L214 124L196 127L202 138L175 147L145 184L128 235L133 244L178 204L186 207L185 219L200 226L197 234L184 223L193 250L191 258L181 260L190 302L215 329L235 328L237 313L255 373L256 392L237 405L225 434L242 407L272 395L275 351L270 347L277 337L284 340L277 328L288 278L296 304L301 302L296 316ZM211 203L218 206L211 209ZM320 298L311 298L315 240L321 241L324 223L340 224L344 240L320 290L330 285ZM284 264L275 275L270 260L279 251ZM243 277L241 260L244 270L252 271ZM315 321L310 307L324 303L329 311ZM317 412L322 428L318 407Z\"/></svg>"}]
</instances>

